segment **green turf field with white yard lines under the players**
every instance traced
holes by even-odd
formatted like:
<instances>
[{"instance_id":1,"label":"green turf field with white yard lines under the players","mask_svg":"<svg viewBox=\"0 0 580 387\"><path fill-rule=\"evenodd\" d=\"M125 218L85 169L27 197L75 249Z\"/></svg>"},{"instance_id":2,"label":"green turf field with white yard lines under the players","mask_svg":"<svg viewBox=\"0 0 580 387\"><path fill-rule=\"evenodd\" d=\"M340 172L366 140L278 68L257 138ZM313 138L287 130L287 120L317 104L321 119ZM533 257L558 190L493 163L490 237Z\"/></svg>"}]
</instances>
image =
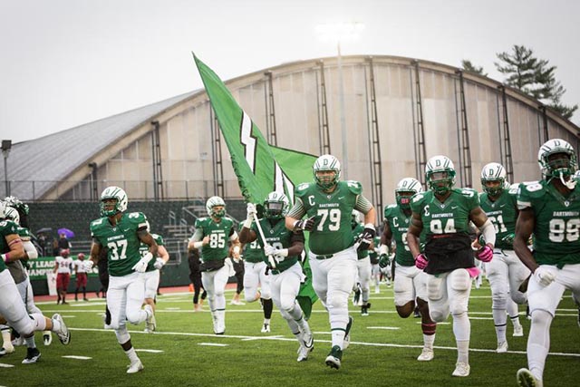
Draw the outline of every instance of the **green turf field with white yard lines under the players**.
<instances>
[{"instance_id":1,"label":"green turf field with white yard lines under the players","mask_svg":"<svg viewBox=\"0 0 580 387\"><path fill-rule=\"evenodd\" d=\"M469 303L471 351L468 378L451 376L456 350L451 318L439 324L435 359L416 361L422 335L420 319L401 319L394 310L392 288L381 285L372 293L371 315L362 317L350 305L354 317L352 343L343 354L343 366L333 370L324 364L330 350L328 317L320 303L310 320L314 352L307 362L296 362L298 343L275 310L272 333L260 334L259 304L227 305L226 335L212 333L207 305L193 313L191 294L161 295L158 300L158 332L144 334L144 325L130 326L133 346L145 369L126 374L129 361L112 331L102 329L104 302L71 302L71 305L40 303L46 315L63 314L72 331L70 345L53 335L53 344L37 343L42 358L24 365L25 348L17 347L0 358L1 386L510 386L517 385L517 369L527 366L526 343L529 321L520 317L524 337L512 337L508 323L508 353L495 353L496 336L491 319L487 285L474 289ZM231 291L227 299L231 299ZM545 385L578 385L580 328L569 293L559 305L551 329ZM67 357L75 356L75 357ZM86 357L79 359L76 357Z\"/></svg>"}]
</instances>

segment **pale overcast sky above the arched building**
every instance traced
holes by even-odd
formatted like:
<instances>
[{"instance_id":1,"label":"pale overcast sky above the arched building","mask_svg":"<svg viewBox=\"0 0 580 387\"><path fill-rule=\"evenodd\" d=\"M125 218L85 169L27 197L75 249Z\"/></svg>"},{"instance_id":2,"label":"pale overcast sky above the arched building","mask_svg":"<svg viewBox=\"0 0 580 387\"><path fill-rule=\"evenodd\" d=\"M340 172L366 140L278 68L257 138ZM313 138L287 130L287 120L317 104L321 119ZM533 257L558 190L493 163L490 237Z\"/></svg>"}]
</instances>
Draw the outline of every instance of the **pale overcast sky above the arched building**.
<instances>
[{"instance_id":1,"label":"pale overcast sky above the arched building","mask_svg":"<svg viewBox=\"0 0 580 387\"><path fill-rule=\"evenodd\" d=\"M580 102L580 2L569 0L0 0L0 138L32 140L222 80L336 54L317 24L364 24L343 54L400 55L495 71L524 44ZM580 123L580 113L573 121Z\"/></svg>"}]
</instances>

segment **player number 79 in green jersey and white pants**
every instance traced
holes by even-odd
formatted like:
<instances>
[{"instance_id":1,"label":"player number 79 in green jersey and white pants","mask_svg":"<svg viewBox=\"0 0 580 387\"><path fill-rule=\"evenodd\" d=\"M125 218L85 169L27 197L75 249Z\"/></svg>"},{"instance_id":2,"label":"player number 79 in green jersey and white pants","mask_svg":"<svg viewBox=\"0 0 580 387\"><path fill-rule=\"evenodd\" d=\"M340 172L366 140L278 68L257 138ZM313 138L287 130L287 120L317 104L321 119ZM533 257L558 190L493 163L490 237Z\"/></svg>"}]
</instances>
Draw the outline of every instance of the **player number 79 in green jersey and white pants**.
<instances>
[{"instance_id":1,"label":"player number 79 in green jersey and white pants","mask_svg":"<svg viewBox=\"0 0 580 387\"><path fill-rule=\"evenodd\" d=\"M341 164L332 155L314 161L314 183L295 189L295 204L285 224L292 231L310 233L308 256L313 287L329 314L332 348L325 363L339 369L343 350L350 340L353 318L348 315L348 298L353 290L356 270L351 218L353 209L364 214L364 231L358 249L366 249L375 237L376 211L362 195L358 181L341 181ZM309 218L302 219L304 215Z\"/></svg>"}]
</instances>

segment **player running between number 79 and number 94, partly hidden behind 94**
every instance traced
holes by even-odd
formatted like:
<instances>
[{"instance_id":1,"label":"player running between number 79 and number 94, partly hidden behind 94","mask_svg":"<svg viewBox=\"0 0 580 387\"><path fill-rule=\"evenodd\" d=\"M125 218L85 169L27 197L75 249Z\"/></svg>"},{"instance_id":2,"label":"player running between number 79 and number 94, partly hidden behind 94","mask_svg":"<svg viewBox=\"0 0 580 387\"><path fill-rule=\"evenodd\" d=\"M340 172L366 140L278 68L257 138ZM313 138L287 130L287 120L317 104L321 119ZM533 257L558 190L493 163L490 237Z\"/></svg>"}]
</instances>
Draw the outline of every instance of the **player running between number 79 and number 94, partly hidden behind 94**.
<instances>
[{"instance_id":1,"label":"player running between number 79 and number 94, partly hidden behind 94","mask_svg":"<svg viewBox=\"0 0 580 387\"><path fill-rule=\"evenodd\" d=\"M423 350L417 360L429 362L433 359L433 343L437 324L429 314L427 303L427 274L415 266L415 259L407 246L407 232L411 222L411 197L422 192L417 179L401 179L395 189L396 204L384 209L384 228L381 237L381 256L379 266L389 266L387 246L391 246L394 239L395 265L394 295L395 308L402 318L409 317L415 311L420 312L421 330L423 332Z\"/></svg>"}]
</instances>

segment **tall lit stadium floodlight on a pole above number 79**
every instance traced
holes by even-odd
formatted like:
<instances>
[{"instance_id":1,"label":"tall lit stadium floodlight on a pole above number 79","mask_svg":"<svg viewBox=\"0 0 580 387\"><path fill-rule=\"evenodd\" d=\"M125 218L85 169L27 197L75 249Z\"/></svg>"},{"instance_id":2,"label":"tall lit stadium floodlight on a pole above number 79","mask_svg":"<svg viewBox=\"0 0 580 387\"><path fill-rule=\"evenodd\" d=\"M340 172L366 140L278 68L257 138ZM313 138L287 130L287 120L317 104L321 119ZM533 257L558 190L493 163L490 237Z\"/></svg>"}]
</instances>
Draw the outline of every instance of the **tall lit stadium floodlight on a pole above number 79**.
<instances>
[{"instance_id":1,"label":"tall lit stadium floodlight on a pole above number 79","mask_svg":"<svg viewBox=\"0 0 580 387\"><path fill-rule=\"evenodd\" d=\"M338 87L341 105L341 140L343 141L343 179L348 178L348 140L346 136L346 116L344 107L344 82L343 82L343 55L341 53L342 42L355 41L362 30L362 23L327 23L316 25L316 35L323 42L336 43L336 58L338 63Z\"/></svg>"}]
</instances>

